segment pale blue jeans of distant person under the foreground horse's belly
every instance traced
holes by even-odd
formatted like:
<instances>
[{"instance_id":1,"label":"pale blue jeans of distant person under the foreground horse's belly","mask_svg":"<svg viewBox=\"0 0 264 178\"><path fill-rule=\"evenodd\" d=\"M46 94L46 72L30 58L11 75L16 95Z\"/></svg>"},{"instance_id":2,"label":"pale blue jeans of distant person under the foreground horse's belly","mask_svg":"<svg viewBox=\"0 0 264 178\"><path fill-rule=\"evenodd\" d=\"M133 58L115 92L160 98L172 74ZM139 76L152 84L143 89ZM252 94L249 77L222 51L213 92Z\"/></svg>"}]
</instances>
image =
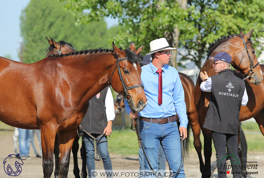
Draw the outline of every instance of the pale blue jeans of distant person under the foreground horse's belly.
<instances>
[{"instance_id":1,"label":"pale blue jeans of distant person under the foreground horse's belly","mask_svg":"<svg viewBox=\"0 0 264 178\"><path fill-rule=\"evenodd\" d=\"M29 148L32 140L32 132L33 130L18 128L19 133L19 156L28 156Z\"/></svg>"}]
</instances>

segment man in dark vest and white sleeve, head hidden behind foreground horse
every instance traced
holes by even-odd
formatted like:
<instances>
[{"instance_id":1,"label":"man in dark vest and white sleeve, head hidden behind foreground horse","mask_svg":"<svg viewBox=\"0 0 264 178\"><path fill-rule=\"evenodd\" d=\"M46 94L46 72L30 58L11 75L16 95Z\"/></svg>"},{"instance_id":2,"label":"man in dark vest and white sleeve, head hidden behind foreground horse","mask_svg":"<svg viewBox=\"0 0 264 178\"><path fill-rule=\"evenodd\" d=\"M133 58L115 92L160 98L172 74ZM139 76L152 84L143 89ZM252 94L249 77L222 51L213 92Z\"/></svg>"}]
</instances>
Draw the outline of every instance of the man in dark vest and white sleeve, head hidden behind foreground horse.
<instances>
[{"instance_id":1,"label":"man in dark vest and white sleeve, head hidden behind foreground horse","mask_svg":"<svg viewBox=\"0 0 264 178\"><path fill-rule=\"evenodd\" d=\"M106 87L91 100L89 100L89 108L80 125L83 128L82 129L80 127L80 135L83 135L84 141L90 141L82 142L84 143L86 150L86 164L89 178L95 177L95 175L93 175L91 172L91 170L95 170L95 150L94 141L92 140L103 133L104 135L98 138L98 141L96 142L99 148L100 156L103 160L105 171L112 172L112 163L107 149L106 135L110 135L112 133L112 122L114 119L115 111L113 95L111 93L110 87ZM106 177L113 177L113 175Z\"/></svg>"}]
</instances>

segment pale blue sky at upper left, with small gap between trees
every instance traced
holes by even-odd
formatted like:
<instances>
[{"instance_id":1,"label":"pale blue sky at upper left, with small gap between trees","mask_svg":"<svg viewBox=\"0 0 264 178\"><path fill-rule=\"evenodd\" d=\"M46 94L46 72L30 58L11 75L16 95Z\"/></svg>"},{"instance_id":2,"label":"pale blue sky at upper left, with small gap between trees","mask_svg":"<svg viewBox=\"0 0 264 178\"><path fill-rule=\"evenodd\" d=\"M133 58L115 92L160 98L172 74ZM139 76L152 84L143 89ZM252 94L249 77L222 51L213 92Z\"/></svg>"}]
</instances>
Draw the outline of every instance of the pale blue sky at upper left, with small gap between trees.
<instances>
[{"instance_id":1,"label":"pale blue sky at upper left, with small gap between trees","mask_svg":"<svg viewBox=\"0 0 264 178\"><path fill-rule=\"evenodd\" d=\"M30 0L8 0L0 1L0 56L11 56L12 60L19 61L18 52L22 38L20 36L21 12L28 5ZM109 24L118 24L116 19L107 18Z\"/></svg>"}]
</instances>

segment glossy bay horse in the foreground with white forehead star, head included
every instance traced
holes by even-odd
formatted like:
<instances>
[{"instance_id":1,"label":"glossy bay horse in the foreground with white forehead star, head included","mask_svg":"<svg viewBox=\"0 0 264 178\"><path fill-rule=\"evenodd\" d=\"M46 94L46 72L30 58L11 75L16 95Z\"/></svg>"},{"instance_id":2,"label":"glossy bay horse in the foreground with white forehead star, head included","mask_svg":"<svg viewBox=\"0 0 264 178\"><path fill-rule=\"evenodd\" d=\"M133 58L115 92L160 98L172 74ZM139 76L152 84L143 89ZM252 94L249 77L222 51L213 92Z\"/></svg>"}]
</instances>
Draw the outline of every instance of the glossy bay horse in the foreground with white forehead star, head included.
<instances>
[{"instance_id":1,"label":"glossy bay horse in the foreground with white forehead star, head included","mask_svg":"<svg viewBox=\"0 0 264 178\"><path fill-rule=\"evenodd\" d=\"M52 55L32 64L0 57L0 120L13 127L41 130L44 178L53 172L56 134L60 177L67 177L77 127L88 101L99 91L111 85L126 96L132 110L142 111L146 106L134 42L123 51L112 45L113 50Z\"/></svg>"}]
</instances>

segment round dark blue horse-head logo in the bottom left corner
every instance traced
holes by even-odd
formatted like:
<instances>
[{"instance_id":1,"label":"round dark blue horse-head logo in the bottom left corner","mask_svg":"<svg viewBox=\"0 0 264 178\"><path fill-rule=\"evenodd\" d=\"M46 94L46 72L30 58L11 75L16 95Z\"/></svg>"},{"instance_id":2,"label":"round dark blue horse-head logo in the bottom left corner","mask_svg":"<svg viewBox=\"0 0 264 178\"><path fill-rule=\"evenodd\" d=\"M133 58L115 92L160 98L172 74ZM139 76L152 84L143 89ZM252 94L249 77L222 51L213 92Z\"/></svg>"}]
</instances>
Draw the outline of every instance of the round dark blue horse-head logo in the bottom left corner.
<instances>
[{"instance_id":1,"label":"round dark blue horse-head logo in the bottom left corner","mask_svg":"<svg viewBox=\"0 0 264 178\"><path fill-rule=\"evenodd\" d=\"M8 158L18 158L17 159L8 159ZM19 153L17 155L8 155L8 157L6 157L6 159L4 160L4 170L6 172L7 175L9 176L18 176L21 172L22 172L22 167L21 165L23 165L23 161L21 160L21 158L19 157Z\"/></svg>"}]
</instances>

